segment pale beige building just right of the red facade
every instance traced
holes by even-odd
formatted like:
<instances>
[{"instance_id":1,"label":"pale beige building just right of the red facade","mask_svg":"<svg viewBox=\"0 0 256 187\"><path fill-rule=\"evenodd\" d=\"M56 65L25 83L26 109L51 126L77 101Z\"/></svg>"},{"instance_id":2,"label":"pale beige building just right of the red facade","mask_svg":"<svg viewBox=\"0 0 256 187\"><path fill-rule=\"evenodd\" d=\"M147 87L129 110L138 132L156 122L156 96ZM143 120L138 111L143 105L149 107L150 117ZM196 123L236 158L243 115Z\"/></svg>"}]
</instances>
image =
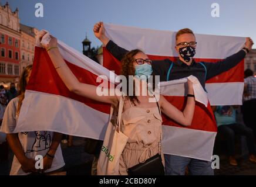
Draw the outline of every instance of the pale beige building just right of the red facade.
<instances>
[{"instance_id":1,"label":"pale beige building just right of the red facade","mask_svg":"<svg viewBox=\"0 0 256 187\"><path fill-rule=\"evenodd\" d=\"M38 29L20 24L21 28L21 70L33 64L35 36Z\"/></svg>"}]
</instances>

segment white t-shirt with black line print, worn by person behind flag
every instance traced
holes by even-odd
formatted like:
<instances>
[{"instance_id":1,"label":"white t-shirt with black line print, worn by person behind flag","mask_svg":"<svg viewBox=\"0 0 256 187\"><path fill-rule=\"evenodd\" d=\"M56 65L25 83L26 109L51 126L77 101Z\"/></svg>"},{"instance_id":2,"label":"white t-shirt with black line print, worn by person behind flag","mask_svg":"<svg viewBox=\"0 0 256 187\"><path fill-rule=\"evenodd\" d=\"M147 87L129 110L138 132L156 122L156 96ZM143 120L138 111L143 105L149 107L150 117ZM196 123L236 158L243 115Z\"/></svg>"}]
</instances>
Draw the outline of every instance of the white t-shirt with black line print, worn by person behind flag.
<instances>
[{"instance_id":1,"label":"white t-shirt with black line print, worn by person behind flag","mask_svg":"<svg viewBox=\"0 0 256 187\"><path fill-rule=\"evenodd\" d=\"M18 106L18 98L12 99L5 109L4 119L1 126L1 131L6 134L13 133L16 127L16 108ZM19 141L21 142L23 151L28 158L35 160L36 155L42 155L44 157L49 151L50 144L52 143L53 132L52 131L30 131L18 133ZM56 169L62 168L65 165L62 156L62 150L60 145L58 146L55 157L52 161L52 167L47 169L45 172L55 171ZM12 168L10 175L28 175L25 173L18 159L14 155L12 161Z\"/></svg>"}]
</instances>

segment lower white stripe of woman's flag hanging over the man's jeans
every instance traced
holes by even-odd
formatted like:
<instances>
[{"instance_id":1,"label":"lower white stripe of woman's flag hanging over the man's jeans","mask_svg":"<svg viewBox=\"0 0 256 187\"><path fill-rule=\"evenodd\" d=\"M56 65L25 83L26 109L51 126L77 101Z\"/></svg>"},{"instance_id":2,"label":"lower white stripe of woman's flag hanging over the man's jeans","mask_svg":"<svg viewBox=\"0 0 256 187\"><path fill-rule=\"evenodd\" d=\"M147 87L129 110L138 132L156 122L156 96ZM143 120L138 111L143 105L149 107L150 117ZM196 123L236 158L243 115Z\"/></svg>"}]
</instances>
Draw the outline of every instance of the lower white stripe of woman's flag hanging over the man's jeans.
<instances>
[{"instance_id":1,"label":"lower white stripe of woman's flag hanging over the man's jeans","mask_svg":"<svg viewBox=\"0 0 256 187\"><path fill-rule=\"evenodd\" d=\"M211 161L217 133L163 125L163 153Z\"/></svg>"}]
</instances>

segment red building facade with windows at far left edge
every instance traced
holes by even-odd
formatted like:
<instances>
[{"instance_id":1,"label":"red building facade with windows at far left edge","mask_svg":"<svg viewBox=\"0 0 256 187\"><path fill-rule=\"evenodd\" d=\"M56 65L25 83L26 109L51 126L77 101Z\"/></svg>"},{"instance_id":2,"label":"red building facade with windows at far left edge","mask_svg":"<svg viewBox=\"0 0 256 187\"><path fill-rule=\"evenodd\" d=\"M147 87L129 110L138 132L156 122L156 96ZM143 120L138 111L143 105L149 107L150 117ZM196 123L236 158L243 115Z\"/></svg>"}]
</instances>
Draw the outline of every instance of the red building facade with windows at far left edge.
<instances>
[{"instance_id":1,"label":"red building facade with windows at far left edge","mask_svg":"<svg viewBox=\"0 0 256 187\"><path fill-rule=\"evenodd\" d=\"M8 2L0 5L0 82L15 82L20 68L19 11L11 11Z\"/></svg>"}]
</instances>

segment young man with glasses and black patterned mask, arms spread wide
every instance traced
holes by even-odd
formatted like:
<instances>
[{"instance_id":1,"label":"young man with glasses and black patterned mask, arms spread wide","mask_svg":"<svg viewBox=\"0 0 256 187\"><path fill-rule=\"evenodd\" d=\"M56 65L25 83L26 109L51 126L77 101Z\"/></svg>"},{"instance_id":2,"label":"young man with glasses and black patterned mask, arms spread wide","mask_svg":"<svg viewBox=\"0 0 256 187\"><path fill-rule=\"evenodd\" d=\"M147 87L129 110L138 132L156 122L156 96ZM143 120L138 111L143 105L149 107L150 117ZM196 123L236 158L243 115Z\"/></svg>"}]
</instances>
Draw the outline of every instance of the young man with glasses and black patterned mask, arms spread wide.
<instances>
[{"instance_id":1,"label":"young man with glasses and black patterned mask, arms spread wide","mask_svg":"<svg viewBox=\"0 0 256 187\"><path fill-rule=\"evenodd\" d=\"M106 37L103 22L96 23L93 31L95 36L102 41L106 49L121 61L126 49L117 46L112 40ZM176 33L176 51L178 60L171 61L153 60L152 69L154 75L160 75L160 81L170 81L194 75L205 89L206 81L221 74L224 71L235 67L251 50L253 41L246 39L245 46L238 53L225 58L217 63L196 63L193 59L196 54L196 37L190 29L181 29ZM197 160L194 158L181 157L177 155L164 155L167 175L184 175L186 167L191 175L213 175L210 161Z\"/></svg>"}]
</instances>

